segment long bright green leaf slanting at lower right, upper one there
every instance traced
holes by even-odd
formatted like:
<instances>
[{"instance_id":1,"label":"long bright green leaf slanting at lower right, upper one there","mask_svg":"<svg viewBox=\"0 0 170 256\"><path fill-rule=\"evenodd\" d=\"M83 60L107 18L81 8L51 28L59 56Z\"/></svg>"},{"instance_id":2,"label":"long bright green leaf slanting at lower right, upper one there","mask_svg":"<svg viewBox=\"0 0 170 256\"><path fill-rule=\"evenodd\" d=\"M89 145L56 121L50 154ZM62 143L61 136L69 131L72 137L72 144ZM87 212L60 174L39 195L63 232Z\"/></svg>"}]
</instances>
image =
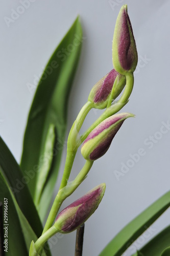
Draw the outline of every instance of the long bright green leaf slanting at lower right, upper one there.
<instances>
[{"instance_id":1,"label":"long bright green leaf slanting at lower right, upper one there","mask_svg":"<svg viewBox=\"0 0 170 256\"><path fill-rule=\"evenodd\" d=\"M100 253L119 256L170 206L170 191L125 226ZM144 254L145 255L145 254ZM150 254L154 255L154 254ZM155 255L154 255L155 256Z\"/></svg>"}]
</instances>

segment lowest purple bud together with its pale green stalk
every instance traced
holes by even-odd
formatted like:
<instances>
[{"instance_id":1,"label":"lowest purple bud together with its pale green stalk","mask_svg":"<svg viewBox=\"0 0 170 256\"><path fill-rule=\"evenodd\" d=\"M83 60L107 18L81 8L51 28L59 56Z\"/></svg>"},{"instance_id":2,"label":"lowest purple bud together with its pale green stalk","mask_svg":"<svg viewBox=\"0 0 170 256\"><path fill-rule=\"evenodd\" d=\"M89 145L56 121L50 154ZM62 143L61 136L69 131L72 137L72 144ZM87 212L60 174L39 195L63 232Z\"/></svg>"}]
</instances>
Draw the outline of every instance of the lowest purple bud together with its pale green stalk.
<instances>
[{"instance_id":1,"label":"lowest purple bud together with its pale green stalk","mask_svg":"<svg viewBox=\"0 0 170 256\"><path fill-rule=\"evenodd\" d=\"M100 184L91 189L86 195L63 209L55 224L49 228L30 247L30 256L37 256L44 243L57 232L69 233L81 226L98 208L105 194L106 184Z\"/></svg>"}]
</instances>

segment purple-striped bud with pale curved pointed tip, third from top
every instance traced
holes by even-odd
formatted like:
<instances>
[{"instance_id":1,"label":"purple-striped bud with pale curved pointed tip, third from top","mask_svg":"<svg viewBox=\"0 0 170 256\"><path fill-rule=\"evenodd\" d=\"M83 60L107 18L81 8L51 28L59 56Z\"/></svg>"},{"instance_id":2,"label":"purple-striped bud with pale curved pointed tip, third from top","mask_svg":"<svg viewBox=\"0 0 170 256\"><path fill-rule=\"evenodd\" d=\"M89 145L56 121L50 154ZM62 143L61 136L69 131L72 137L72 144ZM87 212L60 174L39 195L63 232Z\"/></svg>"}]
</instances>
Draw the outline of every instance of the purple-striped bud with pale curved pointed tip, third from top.
<instances>
[{"instance_id":1,"label":"purple-striped bud with pale curved pointed tip, third from top","mask_svg":"<svg viewBox=\"0 0 170 256\"><path fill-rule=\"evenodd\" d=\"M112 139L128 117L134 117L134 115L130 113L116 114L96 126L83 142L81 148L83 157L91 161L102 157L108 151Z\"/></svg>"}]
</instances>

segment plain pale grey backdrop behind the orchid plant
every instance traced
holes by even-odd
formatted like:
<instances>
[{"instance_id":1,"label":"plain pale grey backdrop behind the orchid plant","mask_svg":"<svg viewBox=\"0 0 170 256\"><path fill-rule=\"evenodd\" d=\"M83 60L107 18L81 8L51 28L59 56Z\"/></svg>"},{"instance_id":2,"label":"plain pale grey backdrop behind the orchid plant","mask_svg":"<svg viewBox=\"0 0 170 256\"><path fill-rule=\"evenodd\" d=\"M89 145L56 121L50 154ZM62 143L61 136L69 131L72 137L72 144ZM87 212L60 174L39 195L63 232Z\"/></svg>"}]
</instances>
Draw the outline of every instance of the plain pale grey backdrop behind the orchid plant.
<instances>
[{"instance_id":1,"label":"plain pale grey backdrop behind the orchid plant","mask_svg":"<svg viewBox=\"0 0 170 256\"><path fill-rule=\"evenodd\" d=\"M33 1L32 1L33 2ZM170 131L160 133L169 116L169 8L168 0L35 0L23 14L7 26L4 17L20 6L18 0L1 3L1 94L0 134L19 162L22 139L34 94L27 83L39 76L62 37L78 14L83 27L82 54L69 98L68 130L92 86L112 69L112 37L116 17L128 4L140 62L135 74L134 90L123 112L136 118L125 121L107 154L97 160L84 183L63 207L92 187L105 182L106 193L99 208L85 224L84 256L96 256L129 221L169 189ZM143 61L144 59L144 61ZM101 114L91 111L85 130ZM83 131L82 130L82 131ZM68 134L68 131L67 131ZM154 136L154 142L147 144ZM145 155L119 180L121 171L139 148ZM64 167L62 157L59 180ZM130 162L130 161L129 161ZM71 178L84 164L80 153ZM59 182L56 184L55 194ZM167 211L154 225L151 236L169 224ZM154 230L154 231L153 231ZM74 255L76 232L56 239L54 255ZM141 246L147 240L136 244ZM10 245L9 245L10 246ZM138 248L137 248L138 249ZM126 255L131 255L132 249Z\"/></svg>"}]
</instances>

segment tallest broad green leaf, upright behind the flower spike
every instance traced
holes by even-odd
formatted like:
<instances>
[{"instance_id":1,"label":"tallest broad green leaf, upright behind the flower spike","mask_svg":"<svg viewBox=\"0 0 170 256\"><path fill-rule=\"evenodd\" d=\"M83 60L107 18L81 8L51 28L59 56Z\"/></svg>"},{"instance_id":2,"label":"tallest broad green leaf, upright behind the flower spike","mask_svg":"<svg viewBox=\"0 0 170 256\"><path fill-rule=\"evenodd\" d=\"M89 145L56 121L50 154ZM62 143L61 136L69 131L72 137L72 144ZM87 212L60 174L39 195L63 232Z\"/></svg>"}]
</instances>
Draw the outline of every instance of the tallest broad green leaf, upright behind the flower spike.
<instances>
[{"instance_id":1,"label":"tallest broad green leaf, upright behind the flower spike","mask_svg":"<svg viewBox=\"0 0 170 256\"><path fill-rule=\"evenodd\" d=\"M37 205L41 219L46 214L58 175L66 131L68 96L78 65L81 45L82 28L78 17L48 61L28 117L20 166L23 174L27 171L33 177L28 186L34 199L38 182L37 173L45 161L43 152L47 131L51 124L56 127L53 163Z\"/></svg>"}]
</instances>

